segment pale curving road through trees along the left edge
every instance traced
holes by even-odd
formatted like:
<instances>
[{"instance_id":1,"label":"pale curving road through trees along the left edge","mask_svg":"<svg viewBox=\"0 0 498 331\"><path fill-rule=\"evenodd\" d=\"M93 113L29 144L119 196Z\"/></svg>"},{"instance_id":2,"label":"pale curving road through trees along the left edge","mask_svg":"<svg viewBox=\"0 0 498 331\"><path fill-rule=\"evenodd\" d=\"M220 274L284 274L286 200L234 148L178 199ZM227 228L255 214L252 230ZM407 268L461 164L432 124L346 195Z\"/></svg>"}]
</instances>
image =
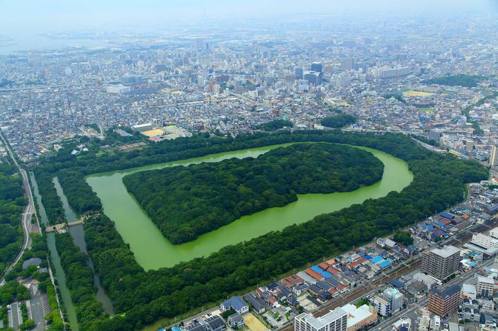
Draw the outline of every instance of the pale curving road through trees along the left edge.
<instances>
[{"instance_id":1,"label":"pale curving road through trees along the left edge","mask_svg":"<svg viewBox=\"0 0 498 331\"><path fill-rule=\"evenodd\" d=\"M26 193L26 198L28 198L28 205L26 205L26 208L24 209L24 213L22 216L22 227L24 231L24 242L21 247L21 250L19 251L19 254L17 254L14 262L12 262L11 265L8 266L8 268L3 272L2 277L0 278L0 285L2 285L5 282L5 276L10 272L10 269L14 267L17 262L21 259L22 254L26 251L26 249L29 249L31 247L31 238L30 238L30 231L31 231L31 217L33 214L35 214L35 203L33 202L33 193L31 192L31 187L30 183L28 181L28 175L26 174L26 171L22 169L19 164L17 163L17 160L14 157L14 153L12 153L12 149L10 149L10 146L7 143L6 138L3 136L3 133L0 131L0 138L5 145L8 153L10 154L12 160L14 161L15 166L17 169L19 169L19 172L21 173L22 180L23 180L23 187L24 187L24 192Z\"/></svg>"}]
</instances>

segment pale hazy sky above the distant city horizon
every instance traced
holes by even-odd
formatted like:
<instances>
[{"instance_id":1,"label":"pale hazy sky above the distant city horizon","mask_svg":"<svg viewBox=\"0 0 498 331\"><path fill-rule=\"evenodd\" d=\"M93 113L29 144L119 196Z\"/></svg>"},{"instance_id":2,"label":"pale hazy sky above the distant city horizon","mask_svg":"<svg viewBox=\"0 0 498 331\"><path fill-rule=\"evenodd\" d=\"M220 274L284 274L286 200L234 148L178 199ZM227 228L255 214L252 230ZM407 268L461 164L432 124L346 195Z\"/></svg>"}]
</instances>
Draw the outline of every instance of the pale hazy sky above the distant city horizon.
<instances>
[{"instance_id":1,"label":"pale hazy sky above the distant city horizon","mask_svg":"<svg viewBox=\"0 0 498 331\"><path fill-rule=\"evenodd\" d=\"M498 0L0 0L0 34L155 23L207 17L299 13L497 12Z\"/></svg>"}]
</instances>

